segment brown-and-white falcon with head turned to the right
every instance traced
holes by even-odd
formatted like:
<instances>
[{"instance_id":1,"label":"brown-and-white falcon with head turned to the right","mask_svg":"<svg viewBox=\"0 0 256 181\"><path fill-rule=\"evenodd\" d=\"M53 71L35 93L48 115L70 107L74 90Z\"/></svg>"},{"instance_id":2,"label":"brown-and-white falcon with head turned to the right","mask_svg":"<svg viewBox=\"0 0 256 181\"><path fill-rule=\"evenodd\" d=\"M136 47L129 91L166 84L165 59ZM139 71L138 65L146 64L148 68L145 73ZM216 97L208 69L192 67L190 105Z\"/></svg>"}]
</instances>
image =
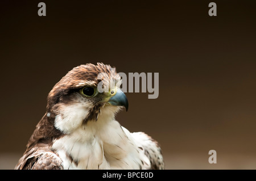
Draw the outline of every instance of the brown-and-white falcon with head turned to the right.
<instances>
[{"instance_id":1,"label":"brown-and-white falcon with head turned to the right","mask_svg":"<svg viewBox=\"0 0 256 181\"><path fill-rule=\"evenodd\" d=\"M98 91L100 82L109 91ZM110 65L69 71L49 92L46 114L15 169L164 169L158 142L115 120L122 107L128 110L121 84Z\"/></svg>"}]
</instances>

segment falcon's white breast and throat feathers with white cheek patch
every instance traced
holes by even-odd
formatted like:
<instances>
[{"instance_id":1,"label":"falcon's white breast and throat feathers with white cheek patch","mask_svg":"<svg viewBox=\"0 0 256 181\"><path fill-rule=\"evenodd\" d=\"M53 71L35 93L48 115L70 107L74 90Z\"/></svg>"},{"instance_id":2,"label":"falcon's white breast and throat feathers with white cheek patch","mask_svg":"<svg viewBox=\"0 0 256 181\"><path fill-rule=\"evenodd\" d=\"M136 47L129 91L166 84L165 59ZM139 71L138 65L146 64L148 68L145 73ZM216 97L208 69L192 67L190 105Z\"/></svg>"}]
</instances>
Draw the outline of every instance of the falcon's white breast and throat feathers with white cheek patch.
<instances>
[{"instance_id":1,"label":"falcon's white breast and throat feathers with white cheek patch","mask_svg":"<svg viewBox=\"0 0 256 181\"><path fill-rule=\"evenodd\" d=\"M74 108L76 113L69 111ZM80 107L56 116L55 127L68 133L52 145L64 169L150 169L149 159L139 149L140 142L114 120L114 114L109 113L113 111L104 110L97 121L86 125L81 124L85 113Z\"/></svg>"}]
</instances>

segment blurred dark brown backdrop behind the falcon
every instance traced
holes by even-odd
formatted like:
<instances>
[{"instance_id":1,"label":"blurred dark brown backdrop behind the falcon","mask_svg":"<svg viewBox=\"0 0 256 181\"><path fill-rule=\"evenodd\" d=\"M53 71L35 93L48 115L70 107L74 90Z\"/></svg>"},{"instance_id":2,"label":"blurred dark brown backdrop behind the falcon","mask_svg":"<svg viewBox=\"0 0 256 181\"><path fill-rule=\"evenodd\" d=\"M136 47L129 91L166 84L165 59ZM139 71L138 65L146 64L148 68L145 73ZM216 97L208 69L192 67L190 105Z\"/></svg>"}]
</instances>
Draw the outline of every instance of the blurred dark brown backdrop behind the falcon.
<instances>
[{"instance_id":1,"label":"blurred dark brown backdrop behind the falcon","mask_svg":"<svg viewBox=\"0 0 256 181\"><path fill-rule=\"evenodd\" d=\"M159 73L117 120L162 145L166 169L256 169L255 1L1 1L0 169L13 169L73 67ZM209 164L208 151L217 151Z\"/></svg>"}]
</instances>

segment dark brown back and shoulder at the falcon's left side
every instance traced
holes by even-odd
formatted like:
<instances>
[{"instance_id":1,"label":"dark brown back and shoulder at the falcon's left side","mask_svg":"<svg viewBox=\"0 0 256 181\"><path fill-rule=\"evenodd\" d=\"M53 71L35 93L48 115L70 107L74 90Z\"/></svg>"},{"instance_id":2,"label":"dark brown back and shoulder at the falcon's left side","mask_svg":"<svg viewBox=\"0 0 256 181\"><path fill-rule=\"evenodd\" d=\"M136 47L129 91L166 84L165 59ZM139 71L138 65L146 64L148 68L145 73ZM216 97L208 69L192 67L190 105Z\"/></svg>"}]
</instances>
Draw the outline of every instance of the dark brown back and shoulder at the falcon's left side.
<instances>
[{"instance_id":1,"label":"dark brown back and shoulder at the falcon's left side","mask_svg":"<svg viewBox=\"0 0 256 181\"><path fill-rule=\"evenodd\" d=\"M17 170L56 170L63 169L59 155L51 149L52 140L60 136L53 128L51 117L44 115L27 144L27 150L15 166Z\"/></svg>"}]
</instances>

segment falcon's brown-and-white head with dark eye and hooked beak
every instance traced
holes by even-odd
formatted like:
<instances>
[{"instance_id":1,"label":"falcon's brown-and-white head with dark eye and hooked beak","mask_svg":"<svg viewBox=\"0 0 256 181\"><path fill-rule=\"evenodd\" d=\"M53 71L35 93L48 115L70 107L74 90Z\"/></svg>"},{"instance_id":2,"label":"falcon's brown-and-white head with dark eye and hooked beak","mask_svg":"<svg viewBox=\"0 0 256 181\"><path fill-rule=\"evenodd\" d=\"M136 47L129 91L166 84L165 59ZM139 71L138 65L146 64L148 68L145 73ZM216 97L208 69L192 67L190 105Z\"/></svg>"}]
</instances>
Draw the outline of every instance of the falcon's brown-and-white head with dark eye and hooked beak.
<instances>
[{"instance_id":1,"label":"falcon's brown-and-white head with dark eye and hooked beak","mask_svg":"<svg viewBox=\"0 0 256 181\"><path fill-rule=\"evenodd\" d=\"M98 76L101 74L101 76ZM121 77L110 65L80 65L56 83L47 98L47 117L57 129L70 133L91 121L113 120L128 100L121 91ZM99 91L98 85L107 91Z\"/></svg>"}]
</instances>

